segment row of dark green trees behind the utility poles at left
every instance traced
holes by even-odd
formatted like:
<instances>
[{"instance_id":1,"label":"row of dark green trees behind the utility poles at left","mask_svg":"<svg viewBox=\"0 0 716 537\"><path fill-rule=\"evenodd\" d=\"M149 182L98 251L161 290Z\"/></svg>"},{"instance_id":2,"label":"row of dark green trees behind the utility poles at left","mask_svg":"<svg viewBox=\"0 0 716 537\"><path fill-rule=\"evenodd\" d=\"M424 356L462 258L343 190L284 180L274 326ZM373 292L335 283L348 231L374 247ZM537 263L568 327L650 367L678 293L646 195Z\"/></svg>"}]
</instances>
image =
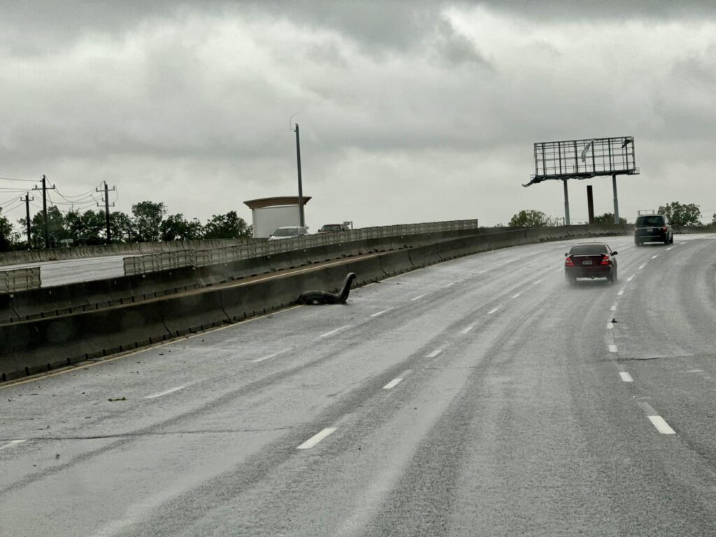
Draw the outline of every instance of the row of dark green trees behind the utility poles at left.
<instances>
[{"instance_id":1,"label":"row of dark green trees behind the utility poles at left","mask_svg":"<svg viewBox=\"0 0 716 537\"><path fill-rule=\"evenodd\" d=\"M18 221L27 228L25 218ZM107 243L107 217L105 211L69 211L63 214L56 206L47 209L47 245L44 239L45 220L42 212L30 219L30 240L27 233L14 231L11 222L0 213L0 251L32 248L57 248L63 239L71 239L74 246ZM251 237L252 229L246 221L229 211L213 215L205 224L197 218L188 220L182 213L167 216L164 203L141 201L132 205L130 214L122 211L110 213L112 243L180 241L198 238Z\"/></svg>"}]
</instances>

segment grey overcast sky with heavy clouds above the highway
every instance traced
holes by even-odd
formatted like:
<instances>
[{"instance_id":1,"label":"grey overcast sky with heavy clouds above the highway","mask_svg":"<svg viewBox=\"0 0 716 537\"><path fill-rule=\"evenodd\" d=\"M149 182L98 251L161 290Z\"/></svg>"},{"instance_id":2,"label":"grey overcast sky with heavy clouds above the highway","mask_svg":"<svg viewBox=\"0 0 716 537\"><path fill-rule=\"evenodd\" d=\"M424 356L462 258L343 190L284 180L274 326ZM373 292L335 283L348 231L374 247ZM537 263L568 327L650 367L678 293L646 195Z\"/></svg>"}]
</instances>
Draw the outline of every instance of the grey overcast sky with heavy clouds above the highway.
<instances>
[{"instance_id":1,"label":"grey overcast sky with heavy clouds above the highway","mask_svg":"<svg viewBox=\"0 0 716 537\"><path fill-rule=\"evenodd\" d=\"M306 223L563 216L533 143L634 136L621 216L716 210L716 2L22 1L0 7L0 205L43 174L201 221L297 195ZM268 4L268 5L265 5ZM611 180L569 182L572 222ZM73 198L74 196L74 198ZM84 197L83 197L84 196ZM35 193L32 211L41 206ZM97 196L97 199L98 196Z\"/></svg>"}]
</instances>

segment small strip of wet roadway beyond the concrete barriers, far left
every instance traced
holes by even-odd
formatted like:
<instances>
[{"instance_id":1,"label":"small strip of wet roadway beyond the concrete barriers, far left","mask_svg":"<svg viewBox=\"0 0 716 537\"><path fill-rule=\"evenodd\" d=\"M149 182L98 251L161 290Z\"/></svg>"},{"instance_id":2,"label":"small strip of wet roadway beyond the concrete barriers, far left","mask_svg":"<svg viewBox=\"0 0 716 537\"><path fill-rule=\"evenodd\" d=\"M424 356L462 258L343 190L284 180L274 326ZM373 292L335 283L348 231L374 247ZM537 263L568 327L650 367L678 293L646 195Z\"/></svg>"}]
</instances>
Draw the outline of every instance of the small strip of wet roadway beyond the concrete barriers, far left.
<instances>
[{"instance_id":1,"label":"small strip of wet roadway beyond the concrete barriers, far left","mask_svg":"<svg viewBox=\"0 0 716 537\"><path fill-rule=\"evenodd\" d=\"M125 275L124 256L105 256L64 261L42 261L38 263L21 263L0 267L0 271L27 269L31 266L40 267L42 287L74 284L77 281L92 281L116 278Z\"/></svg>"}]
</instances>

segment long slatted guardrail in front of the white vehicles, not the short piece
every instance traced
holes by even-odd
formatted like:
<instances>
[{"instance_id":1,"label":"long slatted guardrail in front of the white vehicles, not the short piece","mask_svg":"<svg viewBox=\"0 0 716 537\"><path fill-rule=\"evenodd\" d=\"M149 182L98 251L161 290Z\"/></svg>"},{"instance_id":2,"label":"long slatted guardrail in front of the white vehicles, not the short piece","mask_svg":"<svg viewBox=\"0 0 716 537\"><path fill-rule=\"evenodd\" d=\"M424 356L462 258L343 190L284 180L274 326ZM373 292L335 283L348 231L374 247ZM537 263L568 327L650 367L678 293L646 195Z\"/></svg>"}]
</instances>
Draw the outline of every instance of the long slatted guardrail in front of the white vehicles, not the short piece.
<instances>
[{"instance_id":1,"label":"long slatted guardrail in front of the white vehicles, not the short piece","mask_svg":"<svg viewBox=\"0 0 716 537\"><path fill-rule=\"evenodd\" d=\"M429 222L405 224L402 226L379 226L374 228L353 229L335 233L316 233L281 241L251 241L236 246L211 248L207 250L180 250L165 253L151 253L146 256L124 258L125 275L146 274L147 272L179 269L184 266L208 266L228 263L240 259L271 256L276 253L302 250L316 246L362 241L370 238L397 237L417 233L439 233L478 227L478 220L453 220L447 222Z\"/></svg>"}]
</instances>

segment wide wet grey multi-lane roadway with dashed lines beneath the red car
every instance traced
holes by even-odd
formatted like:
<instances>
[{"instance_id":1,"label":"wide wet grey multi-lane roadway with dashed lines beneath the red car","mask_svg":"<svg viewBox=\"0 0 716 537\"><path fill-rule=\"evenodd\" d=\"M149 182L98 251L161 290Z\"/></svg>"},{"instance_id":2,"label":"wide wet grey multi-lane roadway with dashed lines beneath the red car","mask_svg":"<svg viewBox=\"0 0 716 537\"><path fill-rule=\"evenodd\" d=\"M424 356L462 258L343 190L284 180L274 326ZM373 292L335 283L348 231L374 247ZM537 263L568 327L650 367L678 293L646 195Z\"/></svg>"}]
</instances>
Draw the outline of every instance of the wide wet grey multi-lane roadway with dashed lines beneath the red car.
<instances>
[{"instance_id":1,"label":"wide wet grey multi-lane roadway with dashed lines beneath the red car","mask_svg":"<svg viewBox=\"0 0 716 537\"><path fill-rule=\"evenodd\" d=\"M2 387L0 528L710 535L716 238L609 243L614 286L507 248Z\"/></svg>"}]
</instances>

